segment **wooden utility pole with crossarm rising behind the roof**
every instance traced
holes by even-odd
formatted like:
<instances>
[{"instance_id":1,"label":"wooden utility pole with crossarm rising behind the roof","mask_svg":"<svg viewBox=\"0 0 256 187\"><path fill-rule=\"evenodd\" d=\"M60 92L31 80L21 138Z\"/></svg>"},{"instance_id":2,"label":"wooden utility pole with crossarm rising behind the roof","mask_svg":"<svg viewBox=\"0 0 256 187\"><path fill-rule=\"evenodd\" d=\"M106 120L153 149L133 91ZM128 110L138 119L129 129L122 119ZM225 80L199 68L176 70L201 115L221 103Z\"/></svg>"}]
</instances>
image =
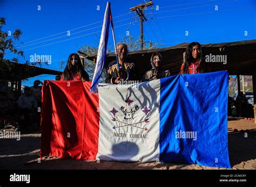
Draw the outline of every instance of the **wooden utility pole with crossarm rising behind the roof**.
<instances>
[{"instance_id":1,"label":"wooden utility pole with crossarm rising behind the roof","mask_svg":"<svg viewBox=\"0 0 256 187\"><path fill-rule=\"evenodd\" d=\"M147 21L146 17L144 16L143 10L147 6L151 6L151 5L153 5L152 1L130 8L130 11L135 11L140 19L140 50L143 49L143 21Z\"/></svg>"}]
</instances>

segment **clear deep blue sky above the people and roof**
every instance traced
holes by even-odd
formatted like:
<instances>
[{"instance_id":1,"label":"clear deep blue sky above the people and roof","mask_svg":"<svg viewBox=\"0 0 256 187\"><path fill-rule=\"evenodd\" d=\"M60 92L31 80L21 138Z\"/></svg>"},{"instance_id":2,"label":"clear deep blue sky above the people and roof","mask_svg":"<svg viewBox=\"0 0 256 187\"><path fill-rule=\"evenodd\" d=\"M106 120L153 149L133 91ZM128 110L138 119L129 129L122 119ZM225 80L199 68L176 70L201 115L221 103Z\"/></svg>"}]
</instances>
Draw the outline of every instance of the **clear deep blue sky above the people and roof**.
<instances>
[{"instance_id":1,"label":"clear deep blue sky above the people and roof","mask_svg":"<svg viewBox=\"0 0 256 187\"><path fill-rule=\"evenodd\" d=\"M60 69L60 61L66 62L70 53L85 44L98 44L106 2L1 0L0 17L6 18L4 31L19 28L23 32L19 41L24 44L18 46L25 55L25 59L19 58L21 63L29 61L30 55L51 55L52 63L43 67L63 70ZM117 42L127 30L138 38L138 17L129 13L129 9L149 0L110 2ZM145 10L148 21L144 22L144 37L146 41L159 42L159 47L192 41L207 44L256 39L256 0L154 0L153 3L153 8ZM159 10L156 9L157 5ZM41 6L41 10L38 10L38 6ZM215 10L216 6L218 10ZM70 31L70 36L67 31ZM186 31L188 35L185 35ZM112 41L110 35L111 47ZM11 59L14 55L6 54L4 57ZM23 84L32 85L36 79L54 80L55 76L39 75Z\"/></svg>"}]
</instances>

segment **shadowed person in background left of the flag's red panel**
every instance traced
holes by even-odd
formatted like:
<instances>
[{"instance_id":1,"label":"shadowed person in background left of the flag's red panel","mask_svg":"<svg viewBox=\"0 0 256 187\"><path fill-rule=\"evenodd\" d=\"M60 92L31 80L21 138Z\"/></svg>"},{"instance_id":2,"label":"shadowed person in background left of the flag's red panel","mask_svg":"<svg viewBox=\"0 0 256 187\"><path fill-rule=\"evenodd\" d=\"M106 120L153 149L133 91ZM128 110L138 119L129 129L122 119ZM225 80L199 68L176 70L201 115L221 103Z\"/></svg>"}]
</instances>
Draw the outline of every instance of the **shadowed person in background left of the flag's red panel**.
<instances>
[{"instance_id":1,"label":"shadowed person in background left of the flag's red panel","mask_svg":"<svg viewBox=\"0 0 256 187\"><path fill-rule=\"evenodd\" d=\"M32 125L34 125L33 116L37 111L37 102L35 97L31 95L30 87L25 87L24 95L19 96L18 108L21 113L22 119L24 119L24 123L21 124L21 128L23 128L24 130L32 129Z\"/></svg>"}]
</instances>

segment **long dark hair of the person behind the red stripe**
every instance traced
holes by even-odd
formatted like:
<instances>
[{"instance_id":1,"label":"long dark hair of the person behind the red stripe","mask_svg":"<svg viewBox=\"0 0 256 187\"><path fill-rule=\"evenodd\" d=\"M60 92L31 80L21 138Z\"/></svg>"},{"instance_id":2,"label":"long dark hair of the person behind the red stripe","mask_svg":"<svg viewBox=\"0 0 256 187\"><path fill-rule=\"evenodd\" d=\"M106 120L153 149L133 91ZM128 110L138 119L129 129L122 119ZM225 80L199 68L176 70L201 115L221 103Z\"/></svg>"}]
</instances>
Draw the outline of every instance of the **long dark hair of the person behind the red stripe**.
<instances>
[{"instance_id":1,"label":"long dark hair of the person behind the red stripe","mask_svg":"<svg viewBox=\"0 0 256 187\"><path fill-rule=\"evenodd\" d=\"M71 57L75 55L77 59L77 66L76 66L76 71L78 75L82 78L85 79L85 81L89 81L89 75L86 73L86 71L83 68L82 62L80 60L80 57L76 53L72 53L69 55L68 62L66 63L66 67L63 72L63 81L72 81L72 64L71 64Z\"/></svg>"}]
</instances>

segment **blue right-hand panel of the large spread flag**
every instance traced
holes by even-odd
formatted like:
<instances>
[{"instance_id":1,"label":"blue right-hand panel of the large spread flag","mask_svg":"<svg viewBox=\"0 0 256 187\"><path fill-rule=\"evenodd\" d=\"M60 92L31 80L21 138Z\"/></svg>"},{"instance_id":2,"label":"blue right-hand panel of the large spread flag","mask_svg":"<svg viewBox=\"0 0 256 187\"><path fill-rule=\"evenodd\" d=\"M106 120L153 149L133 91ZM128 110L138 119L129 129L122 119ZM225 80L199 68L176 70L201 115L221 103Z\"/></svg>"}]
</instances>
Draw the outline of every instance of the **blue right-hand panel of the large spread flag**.
<instances>
[{"instance_id":1,"label":"blue right-hand panel of the large spread flag","mask_svg":"<svg viewBox=\"0 0 256 187\"><path fill-rule=\"evenodd\" d=\"M227 71L174 75L160 84L159 160L231 168Z\"/></svg>"}]
</instances>

